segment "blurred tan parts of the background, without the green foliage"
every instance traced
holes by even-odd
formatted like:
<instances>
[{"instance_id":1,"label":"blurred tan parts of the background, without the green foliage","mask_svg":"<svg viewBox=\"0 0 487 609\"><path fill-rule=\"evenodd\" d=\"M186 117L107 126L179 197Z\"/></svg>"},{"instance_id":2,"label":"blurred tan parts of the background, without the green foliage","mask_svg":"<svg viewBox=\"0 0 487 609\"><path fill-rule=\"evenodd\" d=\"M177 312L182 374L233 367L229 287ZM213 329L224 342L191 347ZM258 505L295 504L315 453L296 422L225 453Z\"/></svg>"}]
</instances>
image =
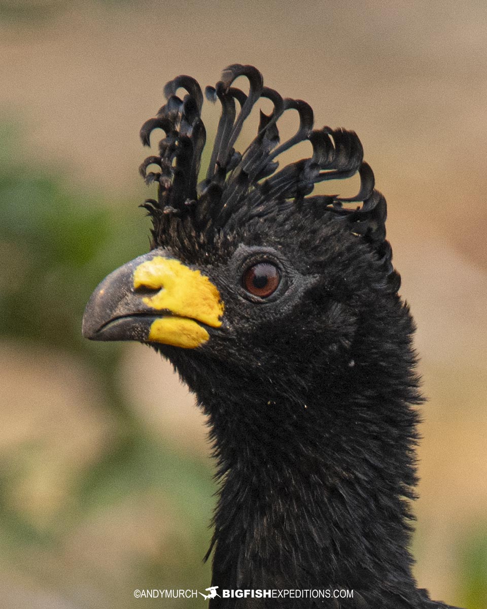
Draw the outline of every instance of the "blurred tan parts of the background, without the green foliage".
<instances>
[{"instance_id":1,"label":"blurred tan parts of the background, without the green foliage","mask_svg":"<svg viewBox=\"0 0 487 609\"><path fill-rule=\"evenodd\" d=\"M66 189L101 193L113 217L119 199L135 207L148 195L137 175L145 156L138 130L177 74L214 84L229 63L252 63L268 86L307 100L318 126L356 130L388 200L388 238L418 323L429 396L416 576L433 597L467 602L466 544L485 548L487 530L485 2L40 0L0 3L0 17L0 114L20 126L15 154L24 171L61 168ZM215 113L208 117L211 131ZM141 220L134 231L147 228ZM16 467L26 442L41 447L22 462L7 503L37 533L52 529L60 506L70 509L72 477L96 459L115 423L99 407L91 371L71 354L9 337L0 375L2 463ZM209 471L200 414L170 367L127 345L117 375L142 429ZM99 512L76 510L62 547L27 544L15 560L0 558L0 607L109 607L108 579L122 599L113 606L131 607L130 574L159 560L161 547L187 552L189 568L201 570L186 512L164 502L164 488L135 488ZM165 582L178 588L171 560Z\"/></svg>"}]
</instances>

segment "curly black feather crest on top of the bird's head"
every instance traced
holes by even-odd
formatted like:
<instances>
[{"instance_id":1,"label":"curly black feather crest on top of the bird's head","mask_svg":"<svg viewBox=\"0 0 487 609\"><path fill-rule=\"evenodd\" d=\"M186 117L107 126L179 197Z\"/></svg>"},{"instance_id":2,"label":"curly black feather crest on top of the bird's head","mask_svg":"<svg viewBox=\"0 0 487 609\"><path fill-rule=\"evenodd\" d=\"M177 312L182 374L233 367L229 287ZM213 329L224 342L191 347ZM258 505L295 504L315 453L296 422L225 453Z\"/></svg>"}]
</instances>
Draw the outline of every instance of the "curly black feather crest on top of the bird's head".
<instances>
[{"instance_id":1,"label":"curly black feather crest on top of the bird's head","mask_svg":"<svg viewBox=\"0 0 487 609\"><path fill-rule=\"evenodd\" d=\"M248 79L248 95L232 86L240 76ZM178 90L185 91L183 99L177 96ZM276 203L307 203L334 220L347 222L352 233L373 245L397 289L399 277L393 272L391 248L385 241L386 202L374 189L374 174L363 161L356 133L342 128L313 129L312 108L300 99L283 99L264 86L261 72L253 66L228 66L222 80L215 87L206 87L205 93L211 102L219 100L222 114L208 172L200 183L206 130L201 121L203 93L197 81L191 76L170 80L164 87L166 104L155 118L142 125L145 146L150 145L154 129L161 128L166 134L159 142L159 155L146 158L140 167L147 184L158 183L158 199L144 203L153 220L153 244L198 247L211 242L212 235L223 227L231 228L265 214L265 209ZM257 135L240 153L234 145L245 119L261 98L272 102L273 111L260 111ZM278 120L291 109L298 112L298 130L280 143ZM279 169L276 158L303 141L312 144L312 157ZM159 171L147 171L150 166ZM349 178L357 172L360 188L354 197L311 195L316 183ZM354 202L361 205L344 205Z\"/></svg>"}]
</instances>

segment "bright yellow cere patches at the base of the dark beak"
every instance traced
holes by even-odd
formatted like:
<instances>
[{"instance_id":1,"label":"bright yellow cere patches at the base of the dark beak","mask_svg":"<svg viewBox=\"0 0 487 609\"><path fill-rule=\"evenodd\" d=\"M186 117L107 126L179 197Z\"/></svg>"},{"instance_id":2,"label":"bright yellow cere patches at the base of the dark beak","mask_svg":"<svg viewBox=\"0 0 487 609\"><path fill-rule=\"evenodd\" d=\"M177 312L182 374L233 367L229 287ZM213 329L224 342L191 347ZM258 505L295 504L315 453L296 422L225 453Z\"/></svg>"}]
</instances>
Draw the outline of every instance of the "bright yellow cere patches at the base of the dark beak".
<instances>
[{"instance_id":1,"label":"bright yellow cere patches at the base of the dark beak","mask_svg":"<svg viewBox=\"0 0 487 609\"><path fill-rule=\"evenodd\" d=\"M156 319L149 340L190 349L209 339L205 328L196 322L212 328L222 325L223 303L217 287L199 270L191 270L178 260L155 256L142 262L133 274L133 287L159 290L143 298L145 305L157 311L167 309L174 316Z\"/></svg>"}]
</instances>

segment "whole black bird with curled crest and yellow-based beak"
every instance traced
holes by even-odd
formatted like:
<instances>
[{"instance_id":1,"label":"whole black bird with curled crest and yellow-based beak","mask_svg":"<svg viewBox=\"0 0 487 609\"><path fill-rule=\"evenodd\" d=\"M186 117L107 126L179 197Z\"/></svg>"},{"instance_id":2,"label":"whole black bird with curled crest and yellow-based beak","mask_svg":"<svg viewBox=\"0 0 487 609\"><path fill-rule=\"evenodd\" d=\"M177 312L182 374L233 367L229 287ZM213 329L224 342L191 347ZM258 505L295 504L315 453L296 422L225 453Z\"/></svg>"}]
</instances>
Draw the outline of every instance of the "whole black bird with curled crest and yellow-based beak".
<instances>
[{"instance_id":1,"label":"whole black bird with curled crest and yellow-based beak","mask_svg":"<svg viewBox=\"0 0 487 609\"><path fill-rule=\"evenodd\" d=\"M238 77L248 94L233 86ZM166 135L141 166L158 184L143 205L152 249L100 283L83 334L150 343L208 414L221 482L208 552L217 593L305 591L292 600L220 594L209 606L446 607L411 572L422 401L414 324L359 138L314 129L306 102L282 99L253 66L231 65L206 88L222 114L198 183L201 88L178 76L164 94L141 130L146 146L154 129ZM273 110L260 111L256 137L237 152L262 98ZM289 110L299 125L279 143ZM279 168L279 155L303 141L310 158ZM316 183L357 172L355 197L311 195Z\"/></svg>"}]
</instances>

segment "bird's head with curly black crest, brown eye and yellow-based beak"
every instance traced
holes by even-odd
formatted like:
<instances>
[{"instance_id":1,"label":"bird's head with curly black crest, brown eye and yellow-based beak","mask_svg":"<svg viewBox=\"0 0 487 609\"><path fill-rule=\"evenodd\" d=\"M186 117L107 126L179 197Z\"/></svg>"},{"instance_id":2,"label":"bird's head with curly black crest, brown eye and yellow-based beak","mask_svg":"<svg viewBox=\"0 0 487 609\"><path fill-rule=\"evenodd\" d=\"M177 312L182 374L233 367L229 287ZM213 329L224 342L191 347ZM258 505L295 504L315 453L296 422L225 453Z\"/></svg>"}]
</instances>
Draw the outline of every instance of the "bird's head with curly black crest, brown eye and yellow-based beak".
<instances>
[{"instance_id":1,"label":"bird's head with curly black crest, brown eye and yellow-based beak","mask_svg":"<svg viewBox=\"0 0 487 609\"><path fill-rule=\"evenodd\" d=\"M248 79L248 94L233 86L238 77ZM306 385L313 370L349 364L363 311L399 287L385 200L357 135L314 129L306 102L283 99L256 68L232 65L206 88L222 113L198 183L203 93L179 76L164 94L166 104L141 129L146 146L153 130L165 134L140 169L158 185L158 198L143 205L152 248L99 284L83 335L150 343L192 388L215 370L222 379L232 373L284 386L291 371L294 384ZM260 111L255 138L237 152L242 125L264 98L273 110ZM289 111L298 127L281 143L279 119ZM280 168L279 156L303 141L312 155ZM315 184L354 174L356 196L312 195Z\"/></svg>"}]
</instances>

